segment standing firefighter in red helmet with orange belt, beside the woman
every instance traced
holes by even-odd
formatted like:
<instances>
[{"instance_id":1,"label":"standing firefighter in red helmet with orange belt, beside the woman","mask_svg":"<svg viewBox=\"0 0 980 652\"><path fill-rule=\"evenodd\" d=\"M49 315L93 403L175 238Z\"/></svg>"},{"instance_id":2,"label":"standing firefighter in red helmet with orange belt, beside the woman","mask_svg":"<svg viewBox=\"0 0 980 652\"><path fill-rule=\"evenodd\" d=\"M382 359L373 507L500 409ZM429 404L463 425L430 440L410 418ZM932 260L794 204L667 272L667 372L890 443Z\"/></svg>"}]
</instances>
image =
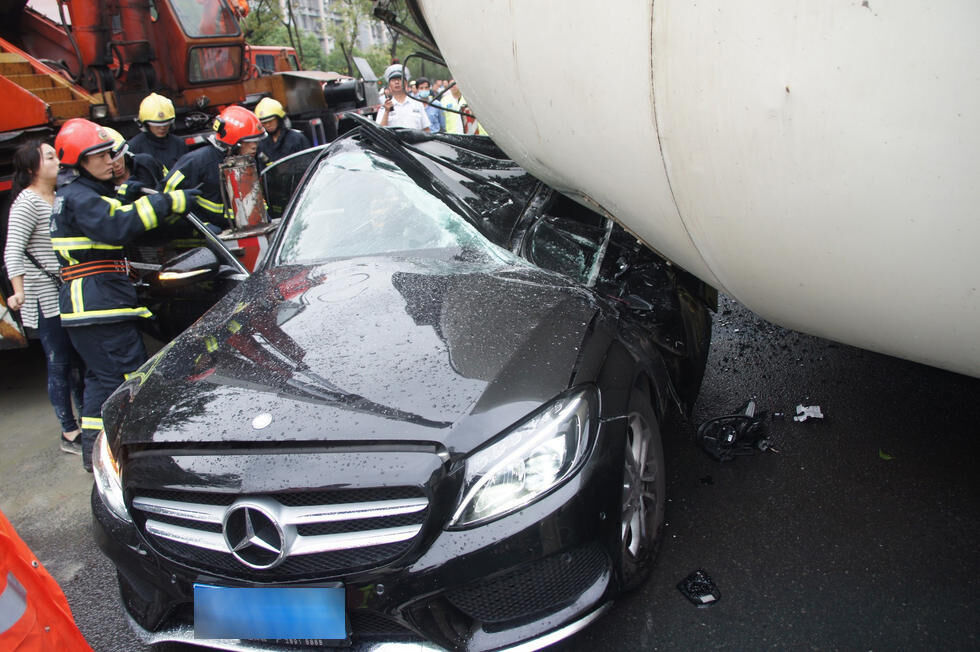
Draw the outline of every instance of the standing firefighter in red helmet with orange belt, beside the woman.
<instances>
[{"instance_id":1,"label":"standing firefighter in red helmet with orange belt, beside the woman","mask_svg":"<svg viewBox=\"0 0 980 652\"><path fill-rule=\"evenodd\" d=\"M92 470L92 445L102 428L102 403L125 375L146 360L136 320L151 317L138 305L123 245L177 219L195 190L140 197L124 204L112 184L112 138L83 118L67 121L55 138L61 160L51 213L51 245L64 281L58 291L61 323L82 356L82 465Z\"/></svg>"}]
</instances>

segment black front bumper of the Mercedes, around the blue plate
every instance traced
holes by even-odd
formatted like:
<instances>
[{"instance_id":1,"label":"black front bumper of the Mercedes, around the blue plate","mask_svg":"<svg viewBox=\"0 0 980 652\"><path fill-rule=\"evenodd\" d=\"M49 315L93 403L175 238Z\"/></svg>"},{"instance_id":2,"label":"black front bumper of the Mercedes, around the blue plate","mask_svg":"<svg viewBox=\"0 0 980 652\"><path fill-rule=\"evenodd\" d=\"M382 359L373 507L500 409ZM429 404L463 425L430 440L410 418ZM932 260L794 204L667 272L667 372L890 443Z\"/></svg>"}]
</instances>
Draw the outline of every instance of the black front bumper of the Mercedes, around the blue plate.
<instances>
[{"instance_id":1,"label":"black front bumper of the Mercedes, around the blue plate","mask_svg":"<svg viewBox=\"0 0 980 652\"><path fill-rule=\"evenodd\" d=\"M270 573L256 579L202 570L161 554L136 526L109 513L93 491L96 540L117 567L123 603L147 643L283 649L281 643L266 641L193 639L194 583L340 581L346 587L353 649L535 649L591 623L619 592L614 569L622 424L600 427L584 466L568 482L527 508L479 527L443 529L452 506L445 496L454 499L458 484L448 475L429 478L432 502L425 528L411 549L376 568L286 581ZM281 479L274 484L282 486Z\"/></svg>"}]
</instances>

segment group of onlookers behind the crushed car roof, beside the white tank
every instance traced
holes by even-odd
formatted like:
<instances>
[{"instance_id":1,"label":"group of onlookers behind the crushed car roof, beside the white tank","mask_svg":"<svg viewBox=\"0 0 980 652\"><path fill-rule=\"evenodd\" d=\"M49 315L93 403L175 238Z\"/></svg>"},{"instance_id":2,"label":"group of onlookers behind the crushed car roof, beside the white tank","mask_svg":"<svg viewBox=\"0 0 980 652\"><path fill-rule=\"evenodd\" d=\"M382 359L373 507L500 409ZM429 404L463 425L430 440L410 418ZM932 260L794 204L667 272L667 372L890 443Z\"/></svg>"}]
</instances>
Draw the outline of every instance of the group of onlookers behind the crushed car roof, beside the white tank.
<instances>
[{"instance_id":1,"label":"group of onlookers behind the crushed car roof, beside the white tank","mask_svg":"<svg viewBox=\"0 0 980 652\"><path fill-rule=\"evenodd\" d=\"M485 133L453 79L412 79L408 69L396 62L385 69L379 83L383 87L376 120L382 126L431 133Z\"/></svg>"}]
</instances>

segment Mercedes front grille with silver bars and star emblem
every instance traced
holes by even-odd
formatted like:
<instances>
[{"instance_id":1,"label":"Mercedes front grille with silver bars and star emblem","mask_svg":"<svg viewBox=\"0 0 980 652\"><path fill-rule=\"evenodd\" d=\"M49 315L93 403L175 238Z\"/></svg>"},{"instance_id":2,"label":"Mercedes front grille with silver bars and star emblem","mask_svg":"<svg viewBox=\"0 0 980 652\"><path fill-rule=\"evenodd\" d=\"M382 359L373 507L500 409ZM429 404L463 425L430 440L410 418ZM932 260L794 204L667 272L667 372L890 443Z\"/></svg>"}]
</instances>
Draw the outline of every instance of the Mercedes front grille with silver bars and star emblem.
<instances>
[{"instance_id":1,"label":"Mercedes front grille with silver bars and star emblem","mask_svg":"<svg viewBox=\"0 0 980 652\"><path fill-rule=\"evenodd\" d=\"M276 563L276 553L264 550L252 555L259 561L249 558L248 549L238 554L256 566L274 564L271 568L248 566L228 545L228 538L247 538L241 527L226 537L223 526L229 510L241 513L237 510L245 506L251 510L249 527L255 521L263 545L266 540L276 544L273 547L284 550L284 556ZM139 490L131 513L146 540L168 559L223 576L284 581L361 571L394 561L411 549L425 522L428 501L417 487L261 496Z\"/></svg>"}]
</instances>

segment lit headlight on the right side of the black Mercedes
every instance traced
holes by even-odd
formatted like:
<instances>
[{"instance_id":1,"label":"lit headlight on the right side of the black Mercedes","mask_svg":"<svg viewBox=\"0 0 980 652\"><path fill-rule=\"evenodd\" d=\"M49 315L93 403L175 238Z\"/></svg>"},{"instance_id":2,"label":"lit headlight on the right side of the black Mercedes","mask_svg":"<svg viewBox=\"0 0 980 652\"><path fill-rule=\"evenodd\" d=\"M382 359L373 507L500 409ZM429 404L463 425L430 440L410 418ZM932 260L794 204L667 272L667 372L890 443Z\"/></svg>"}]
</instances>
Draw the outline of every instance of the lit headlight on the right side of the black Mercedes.
<instances>
[{"instance_id":1,"label":"lit headlight on the right side of the black Mercedes","mask_svg":"<svg viewBox=\"0 0 980 652\"><path fill-rule=\"evenodd\" d=\"M592 389L563 396L466 460L452 526L483 523L534 502L576 470L595 429Z\"/></svg>"}]
</instances>

